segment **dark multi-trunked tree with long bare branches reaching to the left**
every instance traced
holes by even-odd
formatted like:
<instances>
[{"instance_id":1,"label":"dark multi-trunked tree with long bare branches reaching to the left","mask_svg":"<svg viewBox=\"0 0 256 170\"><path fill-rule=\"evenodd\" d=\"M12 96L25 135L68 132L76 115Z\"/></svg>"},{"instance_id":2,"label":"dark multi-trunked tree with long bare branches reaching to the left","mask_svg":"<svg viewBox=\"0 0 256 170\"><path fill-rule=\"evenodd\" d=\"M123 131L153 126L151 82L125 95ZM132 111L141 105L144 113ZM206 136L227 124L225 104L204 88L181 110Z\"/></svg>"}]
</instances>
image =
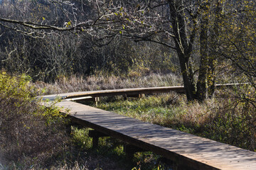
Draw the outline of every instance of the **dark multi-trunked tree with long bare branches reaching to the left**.
<instances>
[{"instance_id":1,"label":"dark multi-trunked tree with long bare branches reaching to the left","mask_svg":"<svg viewBox=\"0 0 256 170\"><path fill-rule=\"evenodd\" d=\"M212 96L218 62L214 41L220 37L222 28L219 23L224 1L96 0L52 3L56 12L51 18L55 17L56 23L44 17L39 21L2 17L0 25L33 37L43 37L53 31L90 35L98 46L107 45L116 37L159 43L176 52L188 101L203 101ZM196 46L200 47L199 51Z\"/></svg>"}]
</instances>

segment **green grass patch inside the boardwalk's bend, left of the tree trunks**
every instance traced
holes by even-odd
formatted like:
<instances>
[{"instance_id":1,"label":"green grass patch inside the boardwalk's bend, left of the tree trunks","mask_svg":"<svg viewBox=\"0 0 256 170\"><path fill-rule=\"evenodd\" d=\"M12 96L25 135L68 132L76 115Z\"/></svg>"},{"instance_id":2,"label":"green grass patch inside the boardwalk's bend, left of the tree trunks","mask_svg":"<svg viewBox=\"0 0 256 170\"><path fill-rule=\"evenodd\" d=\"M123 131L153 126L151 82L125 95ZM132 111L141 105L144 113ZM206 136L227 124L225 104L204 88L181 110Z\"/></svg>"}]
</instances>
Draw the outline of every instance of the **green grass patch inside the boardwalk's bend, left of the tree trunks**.
<instances>
[{"instance_id":1,"label":"green grass patch inside the boardwalk's bend, left of the tree trunks","mask_svg":"<svg viewBox=\"0 0 256 170\"><path fill-rule=\"evenodd\" d=\"M102 102L98 107L146 122L166 125L166 122L175 118L177 113L182 114L180 112L182 111L181 108L173 107L173 105L176 106L182 101L182 98L183 96L171 93L161 96L148 96L142 99L129 98L129 100L119 100L112 103Z\"/></svg>"}]
</instances>

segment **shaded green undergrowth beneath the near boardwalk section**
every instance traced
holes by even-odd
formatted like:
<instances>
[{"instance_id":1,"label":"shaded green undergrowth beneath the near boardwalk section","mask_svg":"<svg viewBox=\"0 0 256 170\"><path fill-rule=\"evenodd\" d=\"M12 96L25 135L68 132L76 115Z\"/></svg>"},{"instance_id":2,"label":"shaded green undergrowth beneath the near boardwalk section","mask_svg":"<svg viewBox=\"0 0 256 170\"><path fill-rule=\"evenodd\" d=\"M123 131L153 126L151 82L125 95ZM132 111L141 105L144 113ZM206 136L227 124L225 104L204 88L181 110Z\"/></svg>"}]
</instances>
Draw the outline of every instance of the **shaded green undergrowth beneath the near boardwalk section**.
<instances>
[{"instance_id":1,"label":"shaded green undergrowth beneath the near boardwalk section","mask_svg":"<svg viewBox=\"0 0 256 170\"><path fill-rule=\"evenodd\" d=\"M127 157L124 146L127 143L112 137L100 137L99 145L92 147L92 138L89 137L90 128L78 129L73 127L73 144L79 148L78 157L98 157L94 161L90 159L88 169L171 169L171 165L161 162L162 157L152 152L137 152L134 157ZM85 154L86 153L86 154ZM82 155L85 154L85 155ZM100 159L101 158L101 159ZM104 158L104 159L103 159ZM80 160L80 162L82 162ZM113 164L114 162L114 164Z\"/></svg>"}]
</instances>

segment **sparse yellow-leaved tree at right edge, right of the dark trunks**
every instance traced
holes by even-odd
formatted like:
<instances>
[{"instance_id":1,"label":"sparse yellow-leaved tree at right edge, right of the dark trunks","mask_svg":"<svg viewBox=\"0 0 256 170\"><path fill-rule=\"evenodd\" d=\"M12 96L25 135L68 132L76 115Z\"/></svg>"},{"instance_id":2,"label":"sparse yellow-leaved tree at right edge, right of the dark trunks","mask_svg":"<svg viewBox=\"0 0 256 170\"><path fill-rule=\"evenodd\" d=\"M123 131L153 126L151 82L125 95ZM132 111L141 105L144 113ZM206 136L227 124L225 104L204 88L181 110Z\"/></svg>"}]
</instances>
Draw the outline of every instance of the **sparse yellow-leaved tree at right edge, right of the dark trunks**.
<instances>
[{"instance_id":1,"label":"sparse yellow-leaved tree at right edge, right of the dark trunks","mask_svg":"<svg viewBox=\"0 0 256 170\"><path fill-rule=\"evenodd\" d=\"M236 97L256 108L256 4L255 1L237 1L233 6L236 8L225 8L223 22L219 23L220 40L214 51L230 62L238 81L250 85L250 89L241 89Z\"/></svg>"}]
</instances>

